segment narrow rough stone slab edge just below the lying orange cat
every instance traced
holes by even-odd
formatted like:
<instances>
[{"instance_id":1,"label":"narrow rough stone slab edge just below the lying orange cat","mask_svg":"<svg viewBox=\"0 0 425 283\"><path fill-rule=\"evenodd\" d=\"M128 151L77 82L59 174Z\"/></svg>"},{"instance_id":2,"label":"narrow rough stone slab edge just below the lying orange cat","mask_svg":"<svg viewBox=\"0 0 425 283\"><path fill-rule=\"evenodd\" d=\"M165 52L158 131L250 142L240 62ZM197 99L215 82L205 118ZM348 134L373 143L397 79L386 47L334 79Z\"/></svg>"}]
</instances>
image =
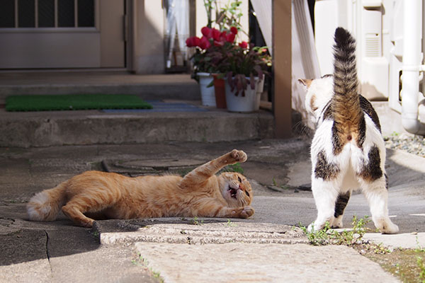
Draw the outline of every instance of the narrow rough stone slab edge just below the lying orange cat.
<instances>
[{"instance_id":1,"label":"narrow rough stone slab edge just below the lying orange cat","mask_svg":"<svg viewBox=\"0 0 425 283\"><path fill-rule=\"evenodd\" d=\"M301 229L239 219L178 218L96 221L101 244L307 243Z\"/></svg>"}]
</instances>

